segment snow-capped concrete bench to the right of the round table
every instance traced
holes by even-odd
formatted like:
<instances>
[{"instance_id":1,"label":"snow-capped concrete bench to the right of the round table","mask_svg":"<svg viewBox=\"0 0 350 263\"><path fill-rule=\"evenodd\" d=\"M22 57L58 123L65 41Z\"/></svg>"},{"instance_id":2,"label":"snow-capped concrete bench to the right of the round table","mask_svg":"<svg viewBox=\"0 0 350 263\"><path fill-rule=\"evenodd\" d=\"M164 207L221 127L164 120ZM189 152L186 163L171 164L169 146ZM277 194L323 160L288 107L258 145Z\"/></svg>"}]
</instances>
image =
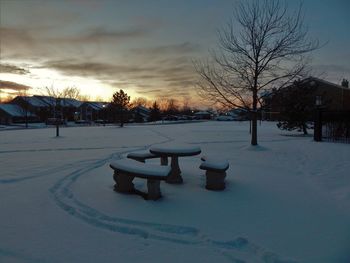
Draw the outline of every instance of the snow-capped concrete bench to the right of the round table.
<instances>
[{"instance_id":1,"label":"snow-capped concrete bench to the right of the round table","mask_svg":"<svg viewBox=\"0 0 350 263\"><path fill-rule=\"evenodd\" d=\"M200 169L205 170L206 186L208 190L223 190L225 189L226 170L229 168L228 161L202 157L202 164Z\"/></svg>"}]
</instances>

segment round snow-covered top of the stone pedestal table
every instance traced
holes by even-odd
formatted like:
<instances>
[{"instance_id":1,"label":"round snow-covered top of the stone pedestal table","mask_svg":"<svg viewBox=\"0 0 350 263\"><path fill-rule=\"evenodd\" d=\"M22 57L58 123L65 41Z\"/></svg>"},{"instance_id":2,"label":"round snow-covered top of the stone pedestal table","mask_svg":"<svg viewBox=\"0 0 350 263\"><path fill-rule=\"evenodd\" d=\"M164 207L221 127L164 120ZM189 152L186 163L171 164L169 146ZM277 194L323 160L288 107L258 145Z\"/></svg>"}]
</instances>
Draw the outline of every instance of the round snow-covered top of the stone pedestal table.
<instances>
[{"instance_id":1,"label":"round snow-covered top of the stone pedestal table","mask_svg":"<svg viewBox=\"0 0 350 263\"><path fill-rule=\"evenodd\" d=\"M189 145L159 145L151 147L149 151L161 156L194 156L201 153L201 148Z\"/></svg>"}]
</instances>

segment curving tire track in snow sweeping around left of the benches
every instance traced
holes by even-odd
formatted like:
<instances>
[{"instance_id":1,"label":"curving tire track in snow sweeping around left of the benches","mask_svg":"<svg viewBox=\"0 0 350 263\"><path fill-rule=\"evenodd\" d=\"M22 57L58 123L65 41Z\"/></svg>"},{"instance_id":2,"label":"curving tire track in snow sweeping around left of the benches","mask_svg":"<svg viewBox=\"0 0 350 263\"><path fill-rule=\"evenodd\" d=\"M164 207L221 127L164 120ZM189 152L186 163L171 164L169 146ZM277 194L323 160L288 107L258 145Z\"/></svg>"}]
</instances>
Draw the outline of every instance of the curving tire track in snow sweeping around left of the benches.
<instances>
[{"instance_id":1,"label":"curving tire track in snow sweeping around left of the benches","mask_svg":"<svg viewBox=\"0 0 350 263\"><path fill-rule=\"evenodd\" d=\"M127 153L146 150L153 145L174 140L158 131L152 131L159 136L166 138L166 140L149 144L138 149L127 149L122 152L113 153L104 159L90 162L85 167L80 167L69 173L49 189L55 203L69 215L82 220L93 227L120 234L138 236L144 239L166 241L180 245L192 245L204 249L213 249L216 253L219 253L231 262L244 263L251 262L252 259L254 262L263 263L295 262L283 260L277 254L266 251L243 237L238 237L229 241L216 241L201 234L201 232L194 227L112 217L84 204L74 196L74 193L71 190L73 184L88 172L102 167L113 159L121 159L123 155Z\"/></svg>"}]
</instances>

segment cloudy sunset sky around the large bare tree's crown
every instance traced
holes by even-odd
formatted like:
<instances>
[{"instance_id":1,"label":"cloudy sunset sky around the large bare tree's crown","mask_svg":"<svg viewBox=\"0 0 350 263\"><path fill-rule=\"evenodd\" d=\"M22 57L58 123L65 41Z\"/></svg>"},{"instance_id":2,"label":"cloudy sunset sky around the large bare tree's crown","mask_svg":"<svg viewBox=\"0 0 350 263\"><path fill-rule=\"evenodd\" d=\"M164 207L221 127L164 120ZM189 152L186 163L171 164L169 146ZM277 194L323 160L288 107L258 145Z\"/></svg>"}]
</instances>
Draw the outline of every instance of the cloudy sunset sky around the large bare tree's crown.
<instances>
[{"instance_id":1,"label":"cloudy sunset sky around the large bare tree's crown","mask_svg":"<svg viewBox=\"0 0 350 263\"><path fill-rule=\"evenodd\" d=\"M287 1L291 10L297 1ZM235 0L0 0L0 96L76 87L109 101L190 100L193 61L218 47L217 30L232 18ZM312 74L334 83L350 79L350 1L303 1Z\"/></svg>"}]
</instances>

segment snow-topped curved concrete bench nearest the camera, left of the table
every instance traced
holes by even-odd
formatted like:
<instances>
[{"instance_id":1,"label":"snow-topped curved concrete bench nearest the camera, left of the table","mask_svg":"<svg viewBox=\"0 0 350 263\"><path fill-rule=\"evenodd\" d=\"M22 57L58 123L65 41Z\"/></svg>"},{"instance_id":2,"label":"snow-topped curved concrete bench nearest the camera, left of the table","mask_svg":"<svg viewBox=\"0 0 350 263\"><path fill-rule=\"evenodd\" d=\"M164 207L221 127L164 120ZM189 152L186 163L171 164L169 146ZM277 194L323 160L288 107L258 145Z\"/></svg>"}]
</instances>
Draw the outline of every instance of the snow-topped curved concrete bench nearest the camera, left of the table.
<instances>
[{"instance_id":1,"label":"snow-topped curved concrete bench nearest the camera, left of the table","mask_svg":"<svg viewBox=\"0 0 350 263\"><path fill-rule=\"evenodd\" d=\"M116 182L114 190L121 193L137 193L132 181L135 177L147 179L147 200L157 200L161 197L160 181L166 180L170 174L169 166L160 166L121 159L110 164L114 170L113 179Z\"/></svg>"}]
</instances>

